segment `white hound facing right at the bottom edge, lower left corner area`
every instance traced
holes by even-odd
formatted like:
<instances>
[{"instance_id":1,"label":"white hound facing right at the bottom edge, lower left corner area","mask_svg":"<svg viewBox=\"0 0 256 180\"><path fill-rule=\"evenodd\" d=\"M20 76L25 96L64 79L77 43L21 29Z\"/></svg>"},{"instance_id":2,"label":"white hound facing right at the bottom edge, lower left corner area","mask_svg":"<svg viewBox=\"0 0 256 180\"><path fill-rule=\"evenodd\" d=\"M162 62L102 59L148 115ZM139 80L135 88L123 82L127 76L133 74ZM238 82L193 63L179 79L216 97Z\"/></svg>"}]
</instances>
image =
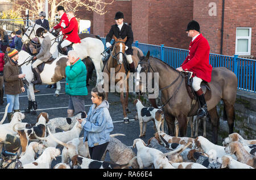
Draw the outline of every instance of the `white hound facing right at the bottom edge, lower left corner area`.
<instances>
[{"instance_id":1,"label":"white hound facing right at the bottom edge, lower left corner area","mask_svg":"<svg viewBox=\"0 0 256 180\"><path fill-rule=\"evenodd\" d=\"M35 161L24 164L24 169L50 169L52 160L60 155L60 149L55 147L48 147L44 150L43 154Z\"/></svg>"}]
</instances>

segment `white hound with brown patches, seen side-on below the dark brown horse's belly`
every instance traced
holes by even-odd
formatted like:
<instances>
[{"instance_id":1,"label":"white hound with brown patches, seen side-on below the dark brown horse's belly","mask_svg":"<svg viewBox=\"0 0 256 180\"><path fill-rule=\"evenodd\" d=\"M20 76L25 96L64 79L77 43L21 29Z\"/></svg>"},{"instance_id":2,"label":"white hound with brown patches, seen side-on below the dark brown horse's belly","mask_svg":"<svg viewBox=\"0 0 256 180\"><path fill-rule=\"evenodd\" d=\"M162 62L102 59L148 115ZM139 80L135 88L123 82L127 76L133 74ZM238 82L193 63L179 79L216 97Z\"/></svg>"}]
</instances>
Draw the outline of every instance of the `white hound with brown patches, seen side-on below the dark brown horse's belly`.
<instances>
[{"instance_id":1,"label":"white hound with brown patches, seen side-on below the dark brown horse's belly","mask_svg":"<svg viewBox=\"0 0 256 180\"><path fill-rule=\"evenodd\" d=\"M155 133L155 138L159 141L162 142L162 139L160 139L160 135L163 136L163 138L166 140L166 142L168 143L178 143L178 144L187 144L189 142L191 142L191 144L189 145L189 148L192 148L192 145L195 144L195 139L193 138L188 138L188 137L175 137L175 136L170 136L167 135L166 133L164 133L163 131L160 131L158 133Z\"/></svg>"}]
</instances>

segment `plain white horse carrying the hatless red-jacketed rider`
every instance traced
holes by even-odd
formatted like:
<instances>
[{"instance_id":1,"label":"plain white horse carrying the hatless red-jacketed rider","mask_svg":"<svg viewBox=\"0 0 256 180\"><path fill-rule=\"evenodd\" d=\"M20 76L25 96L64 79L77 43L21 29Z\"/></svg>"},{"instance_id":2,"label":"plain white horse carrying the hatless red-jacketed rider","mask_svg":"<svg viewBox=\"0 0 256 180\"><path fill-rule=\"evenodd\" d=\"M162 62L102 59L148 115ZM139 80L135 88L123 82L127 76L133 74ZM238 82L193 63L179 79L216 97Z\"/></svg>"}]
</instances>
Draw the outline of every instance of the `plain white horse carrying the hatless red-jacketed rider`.
<instances>
[{"instance_id":1,"label":"plain white horse carrying the hatless red-jacketed rider","mask_svg":"<svg viewBox=\"0 0 256 180\"><path fill-rule=\"evenodd\" d=\"M36 36L36 29L42 28L40 25L31 23L31 25L27 28L27 31L24 33L22 37L23 43L26 43L28 40L34 38ZM57 45L59 44L59 37L53 36L51 33L47 32L47 35L51 38L52 46L51 46L51 54L53 58L59 57L60 54L57 50ZM102 55L101 53L104 51L104 44L98 38L86 37L81 40L81 43L73 44L73 50L76 51L77 55L79 55L80 59L84 59L86 57L90 57L92 59L93 65L96 70L97 75L97 83L100 82L101 79L101 71L103 68Z\"/></svg>"}]
</instances>

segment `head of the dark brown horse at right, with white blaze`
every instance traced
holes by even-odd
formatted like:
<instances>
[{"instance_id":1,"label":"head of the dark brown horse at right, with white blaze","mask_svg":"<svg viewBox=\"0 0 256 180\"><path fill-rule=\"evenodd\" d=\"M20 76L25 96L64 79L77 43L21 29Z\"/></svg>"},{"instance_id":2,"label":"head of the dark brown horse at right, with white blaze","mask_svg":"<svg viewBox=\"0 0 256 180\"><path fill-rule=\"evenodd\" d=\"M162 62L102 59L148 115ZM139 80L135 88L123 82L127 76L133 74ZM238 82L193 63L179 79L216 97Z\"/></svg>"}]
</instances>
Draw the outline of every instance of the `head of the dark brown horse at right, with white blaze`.
<instances>
[{"instance_id":1,"label":"head of the dark brown horse at right, with white blaze","mask_svg":"<svg viewBox=\"0 0 256 180\"><path fill-rule=\"evenodd\" d=\"M139 95L143 95L147 89L146 89L146 85L147 85L147 72L149 71L150 68L150 62L149 62L149 58L150 58L150 51L147 52L146 56L142 56L141 54L138 53L138 57L139 57L139 63L138 66L136 68L136 89L139 89Z\"/></svg>"}]
</instances>

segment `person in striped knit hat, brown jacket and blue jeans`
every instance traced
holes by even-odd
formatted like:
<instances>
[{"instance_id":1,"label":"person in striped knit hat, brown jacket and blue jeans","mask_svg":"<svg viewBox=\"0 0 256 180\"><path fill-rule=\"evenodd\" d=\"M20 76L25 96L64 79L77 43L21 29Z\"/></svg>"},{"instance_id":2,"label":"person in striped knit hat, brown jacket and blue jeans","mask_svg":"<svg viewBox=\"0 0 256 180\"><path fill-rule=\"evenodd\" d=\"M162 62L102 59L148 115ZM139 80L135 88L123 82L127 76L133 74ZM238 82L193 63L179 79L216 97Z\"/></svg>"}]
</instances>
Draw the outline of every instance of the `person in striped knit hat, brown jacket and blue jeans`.
<instances>
[{"instance_id":1,"label":"person in striped knit hat, brown jacket and blue jeans","mask_svg":"<svg viewBox=\"0 0 256 180\"><path fill-rule=\"evenodd\" d=\"M8 56L10 60L3 67L3 79L5 83L5 94L7 98L7 103L10 103L7 110L8 121L11 121L11 115L14 112L19 112L19 94L25 91L23 86L22 78L25 74L19 74L18 66L18 50L7 48Z\"/></svg>"}]
</instances>

